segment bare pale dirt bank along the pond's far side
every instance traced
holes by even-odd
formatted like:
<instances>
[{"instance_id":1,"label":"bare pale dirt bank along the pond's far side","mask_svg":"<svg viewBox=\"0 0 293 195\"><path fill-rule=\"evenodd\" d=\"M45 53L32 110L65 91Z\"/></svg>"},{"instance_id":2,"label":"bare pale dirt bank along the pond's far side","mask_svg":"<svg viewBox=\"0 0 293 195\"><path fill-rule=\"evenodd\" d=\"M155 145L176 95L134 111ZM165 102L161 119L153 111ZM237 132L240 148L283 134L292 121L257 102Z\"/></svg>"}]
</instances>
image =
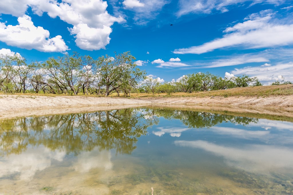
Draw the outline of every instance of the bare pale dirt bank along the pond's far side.
<instances>
[{"instance_id":1,"label":"bare pale dirt bank along the pond's far side","mask_svg":"<svg viewBox=\"0 0 293 195\"><path fill-rule=\"evenodd\" d=\"M137 106L221 110L293 117L293 95L270 97L155 97L114 98L86 96L0 95L0 119L121 109Z\"/></svg>"}]
</instances>

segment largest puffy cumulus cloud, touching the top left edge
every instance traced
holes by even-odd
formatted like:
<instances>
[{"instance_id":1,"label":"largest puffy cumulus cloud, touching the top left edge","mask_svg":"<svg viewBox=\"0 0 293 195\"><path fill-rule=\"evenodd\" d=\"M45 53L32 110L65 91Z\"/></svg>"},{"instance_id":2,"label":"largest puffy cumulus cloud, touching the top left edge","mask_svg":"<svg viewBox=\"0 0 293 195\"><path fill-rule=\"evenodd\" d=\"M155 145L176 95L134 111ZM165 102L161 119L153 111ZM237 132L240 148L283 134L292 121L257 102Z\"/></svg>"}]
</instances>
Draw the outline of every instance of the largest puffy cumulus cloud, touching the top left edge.
<instances>
[{"instance_id":1,"label":"largest puffy cumulus cloud, touching the top left edge","mask_svg":"<svg viewBox=\"0 0 293 195\"><path fill-rule=\"evenodd\" d=\"M76 45L90 51L105 49L110 42L111 25L114 22L125 21L121 16L110 15L106 10L107 2L102 0L63 0L61 2L11 0L3 1L1 4L4 8L0 8L0 13L21 16L28 7L31 7L32 11L39 16L46 12L51 18L59 17L64 22L73 25L69 31L76 38ZM18 9L18 5L22 8ZM61 39L61 36L57 38Z\"/></svg>"}]
</instances>

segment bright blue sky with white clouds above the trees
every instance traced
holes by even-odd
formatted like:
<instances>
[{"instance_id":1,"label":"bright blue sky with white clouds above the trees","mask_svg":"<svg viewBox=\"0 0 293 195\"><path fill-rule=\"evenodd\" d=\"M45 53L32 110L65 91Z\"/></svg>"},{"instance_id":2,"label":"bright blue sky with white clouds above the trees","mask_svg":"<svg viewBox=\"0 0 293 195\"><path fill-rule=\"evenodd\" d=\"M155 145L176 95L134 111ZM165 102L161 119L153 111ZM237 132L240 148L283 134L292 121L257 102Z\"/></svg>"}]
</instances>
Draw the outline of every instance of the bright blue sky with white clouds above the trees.
<instances>
[{"instance_id":1,"label":"bright blue sky with white clouds above the trees","mask_svg":"<svg viewBox=\"0 0 293 195\"><path fill-rule=\"evenodd\" d=\"M293 82L292 0L5 0L0 54L130 51L160 82L209 72Z\"/></svg>"}]
</instances>

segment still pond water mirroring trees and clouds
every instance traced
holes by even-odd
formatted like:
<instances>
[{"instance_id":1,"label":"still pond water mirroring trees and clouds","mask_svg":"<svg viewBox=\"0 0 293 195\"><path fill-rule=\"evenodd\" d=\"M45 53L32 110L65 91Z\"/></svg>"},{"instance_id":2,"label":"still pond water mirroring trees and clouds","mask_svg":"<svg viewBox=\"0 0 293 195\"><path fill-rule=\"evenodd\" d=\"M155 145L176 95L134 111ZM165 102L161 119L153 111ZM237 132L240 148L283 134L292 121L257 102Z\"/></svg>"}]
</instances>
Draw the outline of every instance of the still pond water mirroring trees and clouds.
<instances>
[{"instance_id":1,"label":"still pond water mirroring trees and clouds","mask_svg":"<svg viewBox=\"0 0 293 195\"><path fill-rule=\"evenodd\" d=\"M293 194L293 119L264 118L129 108L1 120L0 194Z\"/></svg>"}]
</instances>

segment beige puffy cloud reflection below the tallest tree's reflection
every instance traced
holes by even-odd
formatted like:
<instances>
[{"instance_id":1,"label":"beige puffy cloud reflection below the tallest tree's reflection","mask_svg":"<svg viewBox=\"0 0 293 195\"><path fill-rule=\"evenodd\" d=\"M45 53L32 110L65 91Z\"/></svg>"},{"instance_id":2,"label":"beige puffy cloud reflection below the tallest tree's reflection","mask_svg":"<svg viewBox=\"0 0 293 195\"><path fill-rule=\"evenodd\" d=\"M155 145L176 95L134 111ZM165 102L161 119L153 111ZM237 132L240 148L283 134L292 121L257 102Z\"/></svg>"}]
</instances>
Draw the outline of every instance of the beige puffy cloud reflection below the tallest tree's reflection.
<instances>
[{"instance_id":1,"label":"beige puffy cloud reflection below the tallest tree's reflection","mask_svg":"<svg viewBox=\"0 0 293 195\"><path fill-rule=\"evenodd\" d=\"M78 160L74 163L74 169L79 172L89 172L92 168L112 169L110 151L99 151L98 148L86 151L77 156Z\"/></svg>"}]
</instances>

